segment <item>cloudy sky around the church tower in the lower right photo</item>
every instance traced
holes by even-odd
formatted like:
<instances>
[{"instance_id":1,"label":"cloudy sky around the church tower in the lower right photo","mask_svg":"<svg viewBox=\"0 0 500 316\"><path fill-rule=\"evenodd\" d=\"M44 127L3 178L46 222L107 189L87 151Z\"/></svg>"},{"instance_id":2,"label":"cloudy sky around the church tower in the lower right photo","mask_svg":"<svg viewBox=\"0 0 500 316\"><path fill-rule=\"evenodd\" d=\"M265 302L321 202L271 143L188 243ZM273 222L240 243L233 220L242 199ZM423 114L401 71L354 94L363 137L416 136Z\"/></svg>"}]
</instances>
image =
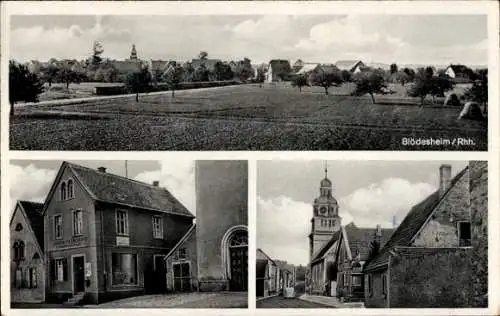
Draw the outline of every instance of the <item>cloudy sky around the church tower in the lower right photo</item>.
<instances>
[{"instance_id":1,"label":"cloudy sky around the church tower in the lower right photo","mask_svg":"<svg viewBox=\"0 0 500 316\"><path fill-rule=\"evenodd\" d=\"M339 203L341 225L392 228L411 207L438 188L439 166L452 176L458 161L328 161L328 178ZM269 160L257 164L257 247L271 258L306 265L312 204L319 196L325 161Z\"/></svg>"}]
</instances>

